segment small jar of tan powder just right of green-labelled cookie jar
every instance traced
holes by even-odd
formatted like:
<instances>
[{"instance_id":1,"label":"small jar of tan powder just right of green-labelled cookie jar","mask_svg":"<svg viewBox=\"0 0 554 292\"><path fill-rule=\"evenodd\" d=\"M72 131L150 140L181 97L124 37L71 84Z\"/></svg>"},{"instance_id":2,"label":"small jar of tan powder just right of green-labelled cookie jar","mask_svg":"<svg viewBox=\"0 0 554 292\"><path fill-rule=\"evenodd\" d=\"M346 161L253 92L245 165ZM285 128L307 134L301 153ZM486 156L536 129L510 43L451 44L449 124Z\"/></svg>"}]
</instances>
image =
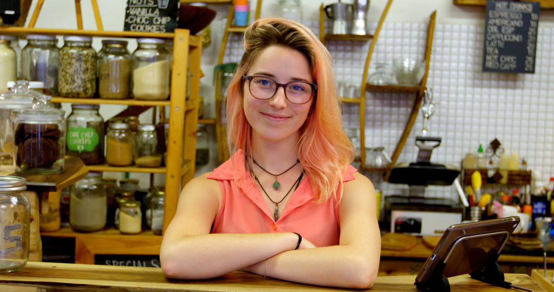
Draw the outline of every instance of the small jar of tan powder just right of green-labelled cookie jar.
<instances>
[{"instance_id":1,"label":"small jar of tan powder just right of green-labelled cookie jar","mask_svg":"<svg viewBox=\"0 0 554 292\"><path fill-rule=\"evenodd\" d=\"M129 124L110 123L106 134L106 163L113 166L133 164L133 139Z\"/></svg>"}]
</instances>

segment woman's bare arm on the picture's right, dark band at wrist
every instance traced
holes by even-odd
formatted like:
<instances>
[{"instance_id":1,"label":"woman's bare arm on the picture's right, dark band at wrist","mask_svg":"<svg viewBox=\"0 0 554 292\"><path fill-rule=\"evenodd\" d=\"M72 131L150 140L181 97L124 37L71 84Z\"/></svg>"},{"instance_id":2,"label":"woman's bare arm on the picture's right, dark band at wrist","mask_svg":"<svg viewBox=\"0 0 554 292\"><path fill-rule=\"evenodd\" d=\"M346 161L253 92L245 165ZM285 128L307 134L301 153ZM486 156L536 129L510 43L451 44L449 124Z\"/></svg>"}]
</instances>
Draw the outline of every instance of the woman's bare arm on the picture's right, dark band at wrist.
<instances>
[{"instance_id":1,"label":"woman's bare arm on the picture's right, dark band at wrist","mask_svg":"<svg viewBox=\"0 0 554 292\"><path fill-rule=\"evenodd\" d=\"M339 206L340 245L287 251L248 268L253 273L306 284L370 288L381 254L375 189L365 176L346 182Z\"/></svg>"}]
</instances>

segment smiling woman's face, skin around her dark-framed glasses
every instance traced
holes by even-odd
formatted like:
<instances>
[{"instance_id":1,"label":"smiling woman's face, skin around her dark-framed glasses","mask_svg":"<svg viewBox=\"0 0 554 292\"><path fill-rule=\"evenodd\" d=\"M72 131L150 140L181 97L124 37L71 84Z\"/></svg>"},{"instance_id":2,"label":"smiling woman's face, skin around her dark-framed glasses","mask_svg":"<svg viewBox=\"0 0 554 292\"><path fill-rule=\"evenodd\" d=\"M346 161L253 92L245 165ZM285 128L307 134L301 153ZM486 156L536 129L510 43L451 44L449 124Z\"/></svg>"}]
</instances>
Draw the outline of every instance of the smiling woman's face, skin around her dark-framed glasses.
<instances>
[{"instance_id":1,"label":"smiling woman's face, skin around her dark-framed glasses","mask_svg":"<svg viewBox=\"0 0 554 292\"><path fill-rule=\"evenodd\" d=\"M314 83L310 66L304 55L284 46L269 46L261 51L247 76L265 76L280 84L291 81ZM269 100L252 96L249 81L244 81L244 114L252 126L253 137L277 142L287 138L298 139L298 129L306 121L314 97L296 105L285 97L284 87Z\"/></svg>"}]
</instances>

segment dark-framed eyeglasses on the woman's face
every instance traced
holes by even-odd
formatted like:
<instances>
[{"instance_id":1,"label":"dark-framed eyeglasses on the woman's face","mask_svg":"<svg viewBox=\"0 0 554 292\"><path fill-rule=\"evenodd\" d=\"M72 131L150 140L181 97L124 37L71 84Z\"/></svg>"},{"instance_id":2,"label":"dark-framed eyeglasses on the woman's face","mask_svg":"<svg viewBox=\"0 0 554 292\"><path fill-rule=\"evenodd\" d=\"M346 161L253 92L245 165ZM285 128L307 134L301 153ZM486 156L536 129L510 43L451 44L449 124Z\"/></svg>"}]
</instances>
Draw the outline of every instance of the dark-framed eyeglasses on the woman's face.
<instances>
[{"instance_id":1,"label":"dark-framed eyeglasses on the woman's face","mask_svg":"<svg viewBox=\"0 0 554 292\"><path fill-rule=\"evenodd\" d=\"M285 90L285 97L295 105L302 105L311 100L317 92L317 85L304 81L291 81L287 84L277 83L275 80L265 76L243 75L248 80L250 94L259 100L269 100L275 96L279 87Z\"/></svg>"}]
</instances>

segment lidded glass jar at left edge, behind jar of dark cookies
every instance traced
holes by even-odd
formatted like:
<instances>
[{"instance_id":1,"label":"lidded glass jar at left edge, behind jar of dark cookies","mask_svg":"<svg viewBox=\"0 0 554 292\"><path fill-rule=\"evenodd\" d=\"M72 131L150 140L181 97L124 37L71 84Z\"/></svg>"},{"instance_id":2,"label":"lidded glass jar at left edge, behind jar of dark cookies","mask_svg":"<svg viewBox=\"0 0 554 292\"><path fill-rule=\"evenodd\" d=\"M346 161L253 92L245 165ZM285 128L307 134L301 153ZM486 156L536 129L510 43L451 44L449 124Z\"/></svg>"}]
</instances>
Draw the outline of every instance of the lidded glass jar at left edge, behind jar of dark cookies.
<instances>
[{"instance_id":1,"label":"lidded glass jar at left edge, behind jar of dark cookies","mask_svg":"<svg viewBox=\"0 0 554 292\"><path fill-rule=\"evenodd\" d=\"M3 173L13 173L15 170L13 111L32 107L34 98L38 97L40 95L30 90L29 82L25 80L17 81L11 91L0 94L0 171Z\"/></svg>"}]
</instances>

